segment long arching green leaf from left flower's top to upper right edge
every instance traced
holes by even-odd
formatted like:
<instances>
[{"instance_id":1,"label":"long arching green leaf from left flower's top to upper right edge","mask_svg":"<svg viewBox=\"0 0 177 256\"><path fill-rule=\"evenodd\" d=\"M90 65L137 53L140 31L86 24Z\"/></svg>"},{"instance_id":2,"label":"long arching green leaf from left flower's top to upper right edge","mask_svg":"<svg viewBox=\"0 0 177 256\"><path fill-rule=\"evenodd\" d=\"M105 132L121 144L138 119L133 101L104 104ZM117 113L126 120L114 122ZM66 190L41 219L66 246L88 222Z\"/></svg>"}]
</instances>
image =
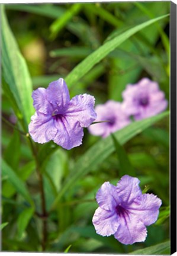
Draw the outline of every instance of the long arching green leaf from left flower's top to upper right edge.
<instances>
[{"instance_id":1,"label":"long arching green leaf from left flower's top to upper right edge","mask_svg":"<svg viewBox=\"0 0 177 256\"><path fill-rule=\"evenodd\" d=\"M136 27L130 28L130 30L125 31L114 39L107 41L104 45L95 50L94 53L86 57L78 66L76 66L69 75L66 76L66 84L70 86L70 84L74 85L86 72L88 72L96 63L102 60L108 53L112 52L116 47L118 47L121 43L127 40L129 37L133 36L133 34L142 30L150 24L155 23L156 21L161 20L162 18L168 17L168 15L163 15L161 17L155 18L153 20L146 21L145 23L139 24Z\"/></svg>"}]
</instances>

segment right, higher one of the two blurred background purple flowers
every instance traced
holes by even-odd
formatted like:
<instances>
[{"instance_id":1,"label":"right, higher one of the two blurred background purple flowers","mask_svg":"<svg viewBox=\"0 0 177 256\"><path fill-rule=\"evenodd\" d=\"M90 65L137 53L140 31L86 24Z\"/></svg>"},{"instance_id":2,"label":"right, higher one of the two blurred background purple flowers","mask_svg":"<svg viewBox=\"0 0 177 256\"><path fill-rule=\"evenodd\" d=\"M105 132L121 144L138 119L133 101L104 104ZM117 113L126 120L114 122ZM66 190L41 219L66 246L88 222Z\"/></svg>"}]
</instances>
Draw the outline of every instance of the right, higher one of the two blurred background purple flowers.
<instances>
[{"instance_id":1,"label":"right, higher one of the two blurred background purple flowers","mask_svg":"<svg viewBox=\"0 0 177 256\"><path fill-rule=\"evenodd\" d=\"M160 91L157 82L149 78L141 79L137 84L127 85L123 91L123 107L135 120L159 114L168 105L165 94Z\"/></svg>"}]
</instances>

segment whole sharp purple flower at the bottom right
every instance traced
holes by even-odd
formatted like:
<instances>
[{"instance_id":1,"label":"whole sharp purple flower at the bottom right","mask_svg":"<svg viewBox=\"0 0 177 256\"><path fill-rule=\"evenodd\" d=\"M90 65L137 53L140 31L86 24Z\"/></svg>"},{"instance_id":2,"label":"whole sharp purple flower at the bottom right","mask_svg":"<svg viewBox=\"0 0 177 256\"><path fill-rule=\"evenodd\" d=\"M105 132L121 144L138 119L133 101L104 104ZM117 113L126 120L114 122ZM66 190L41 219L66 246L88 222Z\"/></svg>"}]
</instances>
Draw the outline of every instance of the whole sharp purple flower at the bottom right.
<instances>
[{"instance_id":1,"label":"whole sharp purple flower at the bottom right","mask_svg":"<svg viewBox=\"0 0 177 256\"><path fill-rule=\"evenodd\" d=\"M92 222L96 233L114 235L122 244L143 242L146 226L156 222L162 201L153 194L142 194L139 179L124 175L117 186L105 182L96 194L99 204Z\"/></svg>"}]
</instances>

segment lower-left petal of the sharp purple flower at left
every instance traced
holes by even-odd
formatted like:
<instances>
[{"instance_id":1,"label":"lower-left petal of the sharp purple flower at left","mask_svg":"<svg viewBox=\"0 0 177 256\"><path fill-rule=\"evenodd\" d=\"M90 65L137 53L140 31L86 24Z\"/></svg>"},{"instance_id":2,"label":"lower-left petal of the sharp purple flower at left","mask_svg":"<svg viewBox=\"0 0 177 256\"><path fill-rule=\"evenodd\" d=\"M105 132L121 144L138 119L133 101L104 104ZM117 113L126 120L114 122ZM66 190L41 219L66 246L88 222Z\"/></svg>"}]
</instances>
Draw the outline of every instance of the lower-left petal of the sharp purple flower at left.
<instances>
[{"instance_id":1,"label":"lower-left petal of the sharp purple flower at left","mask_svg":"<svg viewBox=\"0 0 177 256\"><path fill-rule=\"evenodd\" d=\"M34 140L38 143L46 143L54 139L57 133L57 129L54 126L54 120L50 115L44 115L40 112L36 112L31 117L31 123L28 126L29 133Z\"/></svg>"}]
</instances>

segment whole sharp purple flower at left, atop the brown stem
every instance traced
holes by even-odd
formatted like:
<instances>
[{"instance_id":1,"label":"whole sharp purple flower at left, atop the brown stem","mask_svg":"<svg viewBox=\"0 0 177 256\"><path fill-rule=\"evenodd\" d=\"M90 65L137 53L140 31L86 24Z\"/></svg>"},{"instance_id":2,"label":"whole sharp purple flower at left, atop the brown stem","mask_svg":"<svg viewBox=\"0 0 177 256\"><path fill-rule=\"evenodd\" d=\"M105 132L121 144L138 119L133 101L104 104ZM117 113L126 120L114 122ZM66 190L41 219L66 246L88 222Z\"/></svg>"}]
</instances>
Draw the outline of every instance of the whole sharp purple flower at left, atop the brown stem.
<instances>
[{"instance_id":1,"label":"whole sharp purple flower at left, atop the brown stem","mask_svg":"<svg viewBox=\"0 0 177 256\"><path fill-rule=\"evenodd\" d=\"M60 78L47 89L33 91L36 113L31 117L29 133L38 143L53 140L65 149L81 145L83 127L95 119L95 98L88 94L76 95L70 100L65 81Z\"/></svg>"}]
</instances>

